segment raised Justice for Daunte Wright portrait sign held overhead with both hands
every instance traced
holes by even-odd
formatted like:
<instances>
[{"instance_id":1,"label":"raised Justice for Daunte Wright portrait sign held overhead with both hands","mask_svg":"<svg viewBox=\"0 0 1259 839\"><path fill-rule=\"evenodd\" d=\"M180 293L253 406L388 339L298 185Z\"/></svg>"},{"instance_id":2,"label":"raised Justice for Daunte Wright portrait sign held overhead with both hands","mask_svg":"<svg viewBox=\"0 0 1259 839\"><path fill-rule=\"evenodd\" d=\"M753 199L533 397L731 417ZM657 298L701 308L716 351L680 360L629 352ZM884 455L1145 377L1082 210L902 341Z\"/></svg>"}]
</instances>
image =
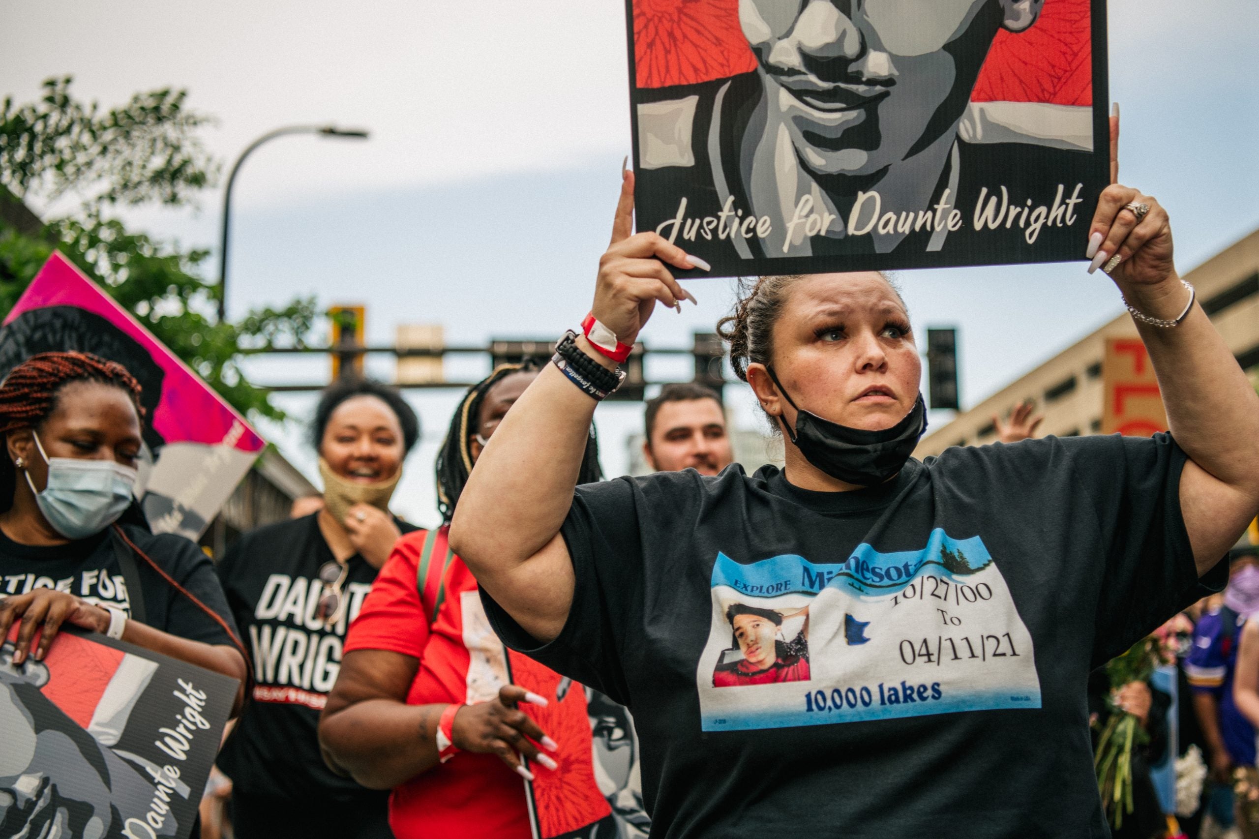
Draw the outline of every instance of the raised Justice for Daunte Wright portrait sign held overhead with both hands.
<instances>
[{"instance_id":1,"label":"raised Justice for Daunte Wright portrait sign held overhead with both hands","mask_svg":"<svg viewBox=\"0 0 1259 839\"><path fill-rule=\"evenodd\" d=\"M1084 258L1104 3L626 8L638 231L704 276Z\"/></svg>"}]
</instances>

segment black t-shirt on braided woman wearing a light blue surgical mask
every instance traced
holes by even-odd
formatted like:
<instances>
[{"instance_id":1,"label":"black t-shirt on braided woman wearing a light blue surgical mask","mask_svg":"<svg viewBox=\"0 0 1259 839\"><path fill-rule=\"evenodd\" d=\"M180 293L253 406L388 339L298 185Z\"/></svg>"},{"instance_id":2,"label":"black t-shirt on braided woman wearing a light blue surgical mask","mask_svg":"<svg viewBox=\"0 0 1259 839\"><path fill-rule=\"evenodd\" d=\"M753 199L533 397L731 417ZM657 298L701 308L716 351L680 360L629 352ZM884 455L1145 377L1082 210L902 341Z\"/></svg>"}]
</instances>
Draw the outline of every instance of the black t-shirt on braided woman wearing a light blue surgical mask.
<instances>
[{"instance_id":1,"label":"black t-shirt on braided woman wearing a light blue surgical mask","mask_svg":"<svg viewBox=\"0 0 1259 839\"><path fill-rule=\"evenodd\" d=\"M127 524L122 528L127 538L171 578L233 626L214 566L200 548L172 533L152 534ZM31 588L57 588L131 615L132 595L127 591L110 533L106 529L60 545L29 545L0 532L0 597L25 595ZM149 563L135 557L135 566L146 625L191 641L232 645L232 639L214 619L162 579Z\"/></svg>"}]
</instances>

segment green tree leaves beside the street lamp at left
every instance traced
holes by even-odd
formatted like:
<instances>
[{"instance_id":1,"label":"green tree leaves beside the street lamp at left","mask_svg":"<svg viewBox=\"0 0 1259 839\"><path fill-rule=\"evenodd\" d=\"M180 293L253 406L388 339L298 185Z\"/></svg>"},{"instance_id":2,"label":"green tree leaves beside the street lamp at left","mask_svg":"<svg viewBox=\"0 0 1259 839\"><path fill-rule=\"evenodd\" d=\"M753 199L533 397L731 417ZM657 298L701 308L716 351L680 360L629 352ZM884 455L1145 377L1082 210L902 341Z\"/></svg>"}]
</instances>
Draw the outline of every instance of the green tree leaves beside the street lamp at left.
<instances>
[{"instance_id":1,"label":"green tree leaves beside the street lamp at left","mask_svg":"<svg viewBox=\"0 0 1259 839\"><path fill-rule=\"evenodd\" d=\"M203 278L208 251L180 248L132 232L106 215L111 205L195 200L217 163L196 130L210 117L189 110L186 91L137 93L102 113L71 96L71 78L44 82L38 102L0 107L0 199L5 188L52 203L79 198L79 210L40 229L0 214L0 312L8 312L59 249L242 413L281 420L264 388L242 370L246 353L300 346L319 311L315 299L219 322L219 288Z\"/></svg>"}]
</instances>

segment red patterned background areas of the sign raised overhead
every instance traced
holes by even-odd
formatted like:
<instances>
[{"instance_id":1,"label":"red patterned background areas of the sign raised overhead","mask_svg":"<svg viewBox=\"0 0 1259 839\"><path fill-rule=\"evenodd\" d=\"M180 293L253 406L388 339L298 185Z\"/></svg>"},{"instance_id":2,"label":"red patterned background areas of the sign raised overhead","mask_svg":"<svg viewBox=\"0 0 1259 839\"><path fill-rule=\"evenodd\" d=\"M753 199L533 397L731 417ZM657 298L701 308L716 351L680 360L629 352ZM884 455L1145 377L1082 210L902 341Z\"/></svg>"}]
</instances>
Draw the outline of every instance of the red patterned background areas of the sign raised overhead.
<instances>
[{"instance_id":1,"label":"red patterned background areas of the sign raised overhead","mask_svg":"<svg viewBox=\"0 0 1259 839\"><path fill-rule=\"evenodd\" d=\"M1090 1L1046 0L1035 26L1000 31L971 100L1092 105ZM757 66L739 0L633 0L633 45L638 87L709 82Z\"/></svg>"}]
</instances>

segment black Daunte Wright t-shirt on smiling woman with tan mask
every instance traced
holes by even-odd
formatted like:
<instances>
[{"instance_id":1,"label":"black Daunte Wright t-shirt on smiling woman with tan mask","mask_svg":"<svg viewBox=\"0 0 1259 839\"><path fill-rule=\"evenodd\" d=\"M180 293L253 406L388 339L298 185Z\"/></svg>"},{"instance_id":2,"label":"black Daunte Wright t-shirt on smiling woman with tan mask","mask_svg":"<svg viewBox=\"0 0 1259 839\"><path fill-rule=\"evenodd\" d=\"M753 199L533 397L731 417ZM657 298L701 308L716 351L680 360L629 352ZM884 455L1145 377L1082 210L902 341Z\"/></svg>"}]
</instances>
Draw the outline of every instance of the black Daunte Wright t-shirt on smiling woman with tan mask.
<instances>
[{"instance_id":1,"label":"black Daunte Wright t-shirt on smiling woman with tan mask","mask_svg":"<svg viewBox=\"0 0 1259 839\"><path fill-rule=\"evenodd\" d=\"M394 519L403 533L415 528ZM315 615L324 586L319 569L334 562L319 514L271 524L242 535L219 577L253 655L253 702L219 753L218 765L256 796L332 805L388 792L368 790L324 765L319 714L341 669L345 630L363 606L376 569L361 556L347 561L340 619L325 626Z\"/></svg>"}]
</instances>

